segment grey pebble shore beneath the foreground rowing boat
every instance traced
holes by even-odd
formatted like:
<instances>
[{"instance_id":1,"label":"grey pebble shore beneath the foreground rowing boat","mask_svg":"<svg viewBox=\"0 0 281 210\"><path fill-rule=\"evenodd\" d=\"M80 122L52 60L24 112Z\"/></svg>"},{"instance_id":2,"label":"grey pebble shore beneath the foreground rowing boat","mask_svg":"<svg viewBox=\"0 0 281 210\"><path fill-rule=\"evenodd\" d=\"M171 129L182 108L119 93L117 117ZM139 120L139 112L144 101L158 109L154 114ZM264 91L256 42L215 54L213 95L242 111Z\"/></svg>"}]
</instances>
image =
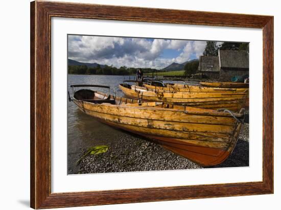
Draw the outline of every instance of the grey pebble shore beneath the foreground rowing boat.
<instances>
[{"instance_id":1,"label":"grey pebble shore beneath the foreground rowing boat","mask_svg":"<svg viewBox=\"0 0 281 210\"><path fill-rule=\"evenodd\" d=\"M95 145L93 145L95 146ZM80 157L86 152L81 150ZM208 168L249 166L249 124L244 124L236 148L220 165ZM194 162L176 155L143 138L124 135L115 139L106 153L88 155L79 163L79 172L114 173L132 171L160 171L200 169Z\"/></svg>"}]
</instances>

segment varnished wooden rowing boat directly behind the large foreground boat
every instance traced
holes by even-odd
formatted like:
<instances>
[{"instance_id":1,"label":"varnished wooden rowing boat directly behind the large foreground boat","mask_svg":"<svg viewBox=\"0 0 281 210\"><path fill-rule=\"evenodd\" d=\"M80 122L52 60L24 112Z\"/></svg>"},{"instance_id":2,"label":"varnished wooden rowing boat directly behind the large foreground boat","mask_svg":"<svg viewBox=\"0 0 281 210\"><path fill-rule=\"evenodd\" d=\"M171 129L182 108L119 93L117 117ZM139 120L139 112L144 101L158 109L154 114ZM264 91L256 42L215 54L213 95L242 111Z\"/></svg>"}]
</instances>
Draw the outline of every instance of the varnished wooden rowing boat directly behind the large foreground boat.
<instances>
[{"instance_id":1,"label":"varnished wooden rowing boat directly behind the large foreground boat","mask_svg":"<svg viewBox=\"0 0 281 210\"><path fill-rule=\"evenodd\" d=\"M239 111L244 108L246 92L177 92L177 91L153 91L145 87L129 84L120 84L119 88L124 94L133 99L144 101L158 101L187 105L208 109L229 109Z\"/></svg>"}]
</instances>

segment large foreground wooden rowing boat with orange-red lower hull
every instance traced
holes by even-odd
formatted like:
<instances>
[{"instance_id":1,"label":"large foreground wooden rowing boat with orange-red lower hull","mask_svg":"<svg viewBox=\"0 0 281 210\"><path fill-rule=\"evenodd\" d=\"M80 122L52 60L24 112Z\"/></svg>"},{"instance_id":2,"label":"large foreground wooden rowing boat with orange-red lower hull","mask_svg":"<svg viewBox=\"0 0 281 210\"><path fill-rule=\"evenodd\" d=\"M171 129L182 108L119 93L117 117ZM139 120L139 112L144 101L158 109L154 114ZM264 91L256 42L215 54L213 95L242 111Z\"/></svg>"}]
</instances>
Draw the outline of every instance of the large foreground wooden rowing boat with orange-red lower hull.
<instances>
[{"instance_id":1,"label":"large foreground wooden rowing boat with orange-red lower hull","mask_svg":"<svg viewBox=\"0 0 281 210\"><path fill-rule=\"evenodd\" d=\"M147 137L201 166L220 164L231 154L244 120L244 109L232 113L138 103L89 89L75 91L69 100L102 123Z\"/></svg>"}]
</instances>

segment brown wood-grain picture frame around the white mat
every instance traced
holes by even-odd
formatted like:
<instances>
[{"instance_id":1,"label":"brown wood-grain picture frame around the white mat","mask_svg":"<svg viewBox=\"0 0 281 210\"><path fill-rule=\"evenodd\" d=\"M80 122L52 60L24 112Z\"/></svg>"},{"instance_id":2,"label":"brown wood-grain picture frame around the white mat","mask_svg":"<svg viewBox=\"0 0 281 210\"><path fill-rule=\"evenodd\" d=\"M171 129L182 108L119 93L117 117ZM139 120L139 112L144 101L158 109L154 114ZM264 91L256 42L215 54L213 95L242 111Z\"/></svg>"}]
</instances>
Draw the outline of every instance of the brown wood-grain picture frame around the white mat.
<instances>
[{"instance_id":1,"label":"brown wood-grain picture frame around the white mat","mask_svg":"<svg viewBox=\"0 0 281 210\"><path fill-rule=\"evenodd\" d=\"M51 193L51 17L263 30L263 181ZM31 207L51 208L273 193L273 16L95 4L31 3Z\"/></svg>"}]
</instances>

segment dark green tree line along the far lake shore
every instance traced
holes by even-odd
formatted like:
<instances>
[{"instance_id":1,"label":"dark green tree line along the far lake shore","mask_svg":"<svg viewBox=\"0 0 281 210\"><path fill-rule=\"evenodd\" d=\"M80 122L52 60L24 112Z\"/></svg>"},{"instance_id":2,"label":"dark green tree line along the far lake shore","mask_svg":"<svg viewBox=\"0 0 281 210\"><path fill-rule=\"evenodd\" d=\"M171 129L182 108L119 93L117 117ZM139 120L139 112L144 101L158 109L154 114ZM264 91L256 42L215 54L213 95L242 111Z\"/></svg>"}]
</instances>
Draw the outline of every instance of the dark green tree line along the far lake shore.
<instances>
[{"instance_id":1,"label":"dark green tree line along the far lake shore","mask_svg":"<svg viewBox=\"0 0 281 210\"><path fill-rule=\"evenodd\" d=\"M68 74L74 75L135 75L139 68L121 66L97 65L96 67L88 67L86 65L68 65ZM160 72L155 68L140 68L143 73Z\"/></svg>"}]
</instances>

